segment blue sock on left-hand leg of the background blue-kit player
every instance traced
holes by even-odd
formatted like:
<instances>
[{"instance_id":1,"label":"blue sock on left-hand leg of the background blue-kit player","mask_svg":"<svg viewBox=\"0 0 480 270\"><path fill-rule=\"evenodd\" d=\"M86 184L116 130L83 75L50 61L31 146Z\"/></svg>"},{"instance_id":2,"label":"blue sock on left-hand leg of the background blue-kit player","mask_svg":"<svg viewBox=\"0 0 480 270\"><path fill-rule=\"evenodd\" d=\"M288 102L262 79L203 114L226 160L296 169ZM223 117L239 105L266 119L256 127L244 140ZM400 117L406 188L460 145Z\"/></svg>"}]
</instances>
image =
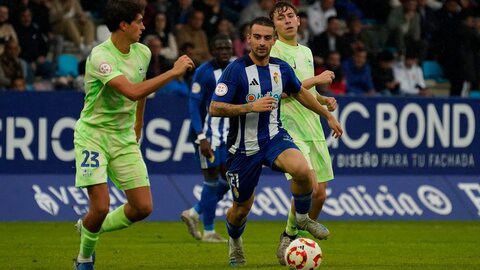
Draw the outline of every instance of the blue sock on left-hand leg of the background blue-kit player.
<instances>
[{"instance_id":1,"label":"blue sock on left-hand leg of the background blue-kit player","mask_svg":"<svg viewBox=\"0 0 480 270\"><path fill-rule=\"evenodd\" d=\"M203 182L200 205L203 208L203 228L206 231L213 230L213 220L217 210L217 180Z\"/></svg>"}]
</instances>

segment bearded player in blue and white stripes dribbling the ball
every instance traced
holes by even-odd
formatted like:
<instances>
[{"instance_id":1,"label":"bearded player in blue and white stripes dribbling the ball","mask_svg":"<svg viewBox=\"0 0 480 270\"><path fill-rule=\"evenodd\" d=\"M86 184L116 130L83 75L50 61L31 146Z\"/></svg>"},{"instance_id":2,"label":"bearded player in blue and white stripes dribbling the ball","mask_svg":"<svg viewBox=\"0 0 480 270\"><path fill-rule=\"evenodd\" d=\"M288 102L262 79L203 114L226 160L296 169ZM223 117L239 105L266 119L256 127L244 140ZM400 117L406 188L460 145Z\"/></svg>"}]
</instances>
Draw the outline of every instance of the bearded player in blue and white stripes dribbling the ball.
<instances>
[{"instance_id":1,"label":"bearded player in blue and white stripes dribbling the ball","mask_svg":"<svg viewBox=\"0 0 480 270\"><path fill-rule=\"evenodd\" d=\"M269 18L259 17L250 23L247 41L251 52L225 69L210 105L212 116L230 117L227 179L233 204L227 211L227 231L231 266L246 263L241 235L263 165L293 176L291 191L297 226L315 237L323 233L323 226L308 217L313 175L302 153L281 125L282 93L292 95L305 107L329 119L334 137L343 133L338 122L302 87L288 63L270 57L274 25Z\"/></svg>"}]
</instances>

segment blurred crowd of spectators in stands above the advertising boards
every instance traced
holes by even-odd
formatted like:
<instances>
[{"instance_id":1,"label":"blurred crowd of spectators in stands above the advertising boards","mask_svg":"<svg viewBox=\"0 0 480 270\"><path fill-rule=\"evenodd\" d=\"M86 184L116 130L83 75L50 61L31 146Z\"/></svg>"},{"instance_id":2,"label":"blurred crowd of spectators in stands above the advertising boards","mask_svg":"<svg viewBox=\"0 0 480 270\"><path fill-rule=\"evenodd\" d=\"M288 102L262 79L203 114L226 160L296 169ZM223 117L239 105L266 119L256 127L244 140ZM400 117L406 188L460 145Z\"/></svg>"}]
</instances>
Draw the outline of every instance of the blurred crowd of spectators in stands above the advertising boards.
<instances>
[{"instance_id":1,"label":"blurred crowd of spectators in stands above the advertising boards","mask_svg":"<svg viewBox=\"0 0 480 270\"><path fill-rule=\"evenodd\" d=\"M85 59L108 38L106 0L0 0L0 89L78 91ZM229 35L235 57L248 53L248 24L269 15L275 0L140 0L141 42L152 51L147 77L181 54L198 65L209 40ZM451 96L480 89L480 7L475 0L293 0L299 42L317 74L335 72L326 95L431 96L426 63L438 65ZM64 63L62 55L73 55ZM76 65L65 67L65 65ZM71 70L72 71L71 71ZM161 92L188 95L192 74ZM438 78L437 78L438 79Z\"/></svg>"}]
</instances>

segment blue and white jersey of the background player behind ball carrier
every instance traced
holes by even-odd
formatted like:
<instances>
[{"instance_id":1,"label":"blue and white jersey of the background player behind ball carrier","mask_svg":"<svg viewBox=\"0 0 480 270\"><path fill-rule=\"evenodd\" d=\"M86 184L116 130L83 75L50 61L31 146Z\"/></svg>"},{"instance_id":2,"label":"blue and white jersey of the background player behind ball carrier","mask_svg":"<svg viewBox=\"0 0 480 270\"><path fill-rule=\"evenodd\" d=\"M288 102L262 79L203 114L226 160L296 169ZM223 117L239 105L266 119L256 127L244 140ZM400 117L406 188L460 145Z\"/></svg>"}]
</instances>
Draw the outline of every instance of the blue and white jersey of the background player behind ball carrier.
<instances>
[{"instance_id":1,"label":"blue and white jersey of the background player behind ball carrier","mask_svg":"<svg viewBox=\"0 0 480 270\"><path fill-rule=\"evenodd\" d=\"M204 133L213 150L227 142L229 121L226 117L211 117L208 113L212 95L222 69L214 60L197 68L192 80L189 111L195 134Z\"/></svg>"}]
</instances>

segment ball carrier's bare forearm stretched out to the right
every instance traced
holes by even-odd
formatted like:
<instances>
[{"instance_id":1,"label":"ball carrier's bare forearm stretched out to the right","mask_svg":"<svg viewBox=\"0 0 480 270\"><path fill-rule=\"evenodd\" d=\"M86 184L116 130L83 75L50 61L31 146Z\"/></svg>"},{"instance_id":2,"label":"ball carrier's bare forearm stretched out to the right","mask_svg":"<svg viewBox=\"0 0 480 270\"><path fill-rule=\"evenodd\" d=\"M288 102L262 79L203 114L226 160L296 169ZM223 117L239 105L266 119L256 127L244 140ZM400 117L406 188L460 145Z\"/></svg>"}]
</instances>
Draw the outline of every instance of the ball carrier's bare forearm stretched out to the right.
<instances>
[{"instance_id":1,"label":"ball carrier's bare forearm stretched out to the right","mask_svg":"<svg viewBox=\"0 0 480 270\"><path fill-rule=\"evenodd\" d=\"M328 112L307 89L302 87L299 92L293 94L293 97L306 108L327 119L328 126L332 129L334 138L342 136L343 130L340 123L338 123L337 119Z\"/></svg>"}]
</instances>

